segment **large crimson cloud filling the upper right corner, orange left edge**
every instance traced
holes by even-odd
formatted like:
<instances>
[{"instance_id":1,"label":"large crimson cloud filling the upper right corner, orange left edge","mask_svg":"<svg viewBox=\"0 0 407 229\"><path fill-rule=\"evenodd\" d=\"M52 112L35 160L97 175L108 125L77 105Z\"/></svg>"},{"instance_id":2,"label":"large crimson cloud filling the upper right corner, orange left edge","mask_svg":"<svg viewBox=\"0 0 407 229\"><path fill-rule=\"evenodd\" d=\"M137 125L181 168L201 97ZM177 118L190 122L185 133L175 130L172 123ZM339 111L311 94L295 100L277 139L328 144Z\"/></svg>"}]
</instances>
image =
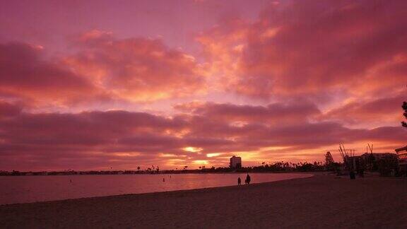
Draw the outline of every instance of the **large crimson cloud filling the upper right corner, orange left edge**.
<instances>
[{"instance_id":1,"label":"large crimson cloud filling the upper right corner, orange left edge","mask_svg":"<svg viewBox=\"0 0 407 229\"><path fill-rule=\"evenodd\" d=\"M240 95L389 95L403 89L407 73L404 8L403 1L290 1L200 40L208 59L228 66L214 70L228 78L226 89Z\"/></svg>"}]
</instances>

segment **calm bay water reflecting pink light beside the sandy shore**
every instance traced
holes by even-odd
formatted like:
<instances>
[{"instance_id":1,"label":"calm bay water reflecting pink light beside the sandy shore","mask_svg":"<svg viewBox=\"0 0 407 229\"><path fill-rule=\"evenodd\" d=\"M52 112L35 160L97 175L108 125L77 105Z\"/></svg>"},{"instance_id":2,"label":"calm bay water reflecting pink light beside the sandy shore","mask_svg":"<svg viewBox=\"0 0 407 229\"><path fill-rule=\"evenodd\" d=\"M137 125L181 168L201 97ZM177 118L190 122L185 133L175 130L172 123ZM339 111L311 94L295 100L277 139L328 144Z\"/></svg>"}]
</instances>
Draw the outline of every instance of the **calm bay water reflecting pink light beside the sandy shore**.
<instances>
[{"instance_id":1,"label":"calm bay water reflecting pink light beside the sandy shore","mask_svg":"<svg viewBox=\"0 0 407 229\"><path fill-rule=\"evenodd\" d=\"M309 177L312 175L252 173L250 176L252 177L252 183L261 183ZM230 186L237 184L237 177L241 177L242 183L244 183L246 174L0 177L0 204ZM163 178L165 178L165 182L163 182Z\"/></svg>"}]
</instances>

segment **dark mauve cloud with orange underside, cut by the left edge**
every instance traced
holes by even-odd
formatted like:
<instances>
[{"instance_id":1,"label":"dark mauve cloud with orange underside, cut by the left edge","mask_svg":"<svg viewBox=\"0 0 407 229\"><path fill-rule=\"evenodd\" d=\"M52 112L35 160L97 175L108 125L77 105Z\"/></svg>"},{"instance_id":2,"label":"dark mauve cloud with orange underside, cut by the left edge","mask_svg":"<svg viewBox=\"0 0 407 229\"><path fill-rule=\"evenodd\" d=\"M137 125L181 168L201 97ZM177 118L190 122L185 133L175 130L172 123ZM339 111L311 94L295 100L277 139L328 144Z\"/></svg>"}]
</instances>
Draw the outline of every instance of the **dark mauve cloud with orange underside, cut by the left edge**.
<instances>
[{"instance_id":1,"label":"dark mauve cloud with orange underside, cut by the left edge","mask_svg":"<svg viewBox=\"0 0 407 229\"><path fill-rule=\"evenodd\" d=\"M97 88L66 66L47 61L41 47L23 43L0 45L0 95L36 102L69 102Z\"/></svg>"}]
</instances>

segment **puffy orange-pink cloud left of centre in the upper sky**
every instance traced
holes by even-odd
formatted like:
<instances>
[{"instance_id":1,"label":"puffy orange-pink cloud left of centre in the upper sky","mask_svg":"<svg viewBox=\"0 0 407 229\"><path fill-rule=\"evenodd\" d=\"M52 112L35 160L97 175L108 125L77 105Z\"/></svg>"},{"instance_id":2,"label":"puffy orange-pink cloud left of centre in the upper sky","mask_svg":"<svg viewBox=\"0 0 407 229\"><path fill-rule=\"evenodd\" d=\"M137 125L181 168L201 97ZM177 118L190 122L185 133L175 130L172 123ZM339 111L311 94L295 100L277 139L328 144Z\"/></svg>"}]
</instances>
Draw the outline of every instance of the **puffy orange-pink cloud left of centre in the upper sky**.
<instances>
[{"instance_id":1,"label":"puffy orange-pink cloud left of centre in the upper sky","mask_svg":"<svg viewBox=\"0 0 407 229\"><path fill-rule=\"evenodd\" d=\"M135 102L185 97L205 90L194 57L161 40L119 40L98 30L78 39L66 64L113 95Z\"/></svg>"}]
</instances>

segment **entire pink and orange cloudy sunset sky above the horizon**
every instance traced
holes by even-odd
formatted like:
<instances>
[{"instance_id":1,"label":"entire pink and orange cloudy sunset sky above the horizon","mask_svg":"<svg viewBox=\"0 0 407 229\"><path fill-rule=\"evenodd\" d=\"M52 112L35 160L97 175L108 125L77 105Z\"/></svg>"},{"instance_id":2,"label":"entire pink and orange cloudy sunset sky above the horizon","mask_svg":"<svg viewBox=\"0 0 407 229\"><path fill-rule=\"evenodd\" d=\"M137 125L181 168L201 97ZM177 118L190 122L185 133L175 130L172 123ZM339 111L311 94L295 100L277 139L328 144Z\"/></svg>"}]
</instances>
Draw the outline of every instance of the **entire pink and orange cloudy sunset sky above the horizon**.
<instances>
[{"instance_id":1,"label":"entire pink and orange cloudy sunset sky above the horizon","mask_svg":"<svg viewBox=\"0 0 407 229\"><path fill-rule=\"evenodd\" d=\"M407 144L407 1L2 1L0 170Z\"/></svg>"}]
</instances>

